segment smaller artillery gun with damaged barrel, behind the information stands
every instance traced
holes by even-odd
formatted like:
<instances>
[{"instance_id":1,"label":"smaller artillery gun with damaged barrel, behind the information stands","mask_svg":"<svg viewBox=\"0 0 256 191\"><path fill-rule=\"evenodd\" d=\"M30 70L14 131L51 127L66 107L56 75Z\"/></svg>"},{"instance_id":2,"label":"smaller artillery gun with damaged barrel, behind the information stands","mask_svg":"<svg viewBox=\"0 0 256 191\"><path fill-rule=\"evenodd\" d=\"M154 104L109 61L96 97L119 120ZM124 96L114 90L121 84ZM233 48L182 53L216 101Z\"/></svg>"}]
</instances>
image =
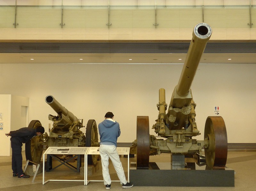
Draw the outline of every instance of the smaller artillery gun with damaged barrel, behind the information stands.
<instances>
[{"instance_id":1,"label":"smaller artillery gun with damaged barrel, behind the information stands","mask_svg":"<svg viewBox=\"0 0 256 191\"><path fill-rule=\"evenodd\" d=\"M44 148L48 147L98 147L98 130L94 119L90 119L86 125L86 133L80 130L83 119L78 119L72 112L63 107L53 96L45 97L45 102L58 114L49 114L48 118L53 122L49 127L49 135L45 132L41 137L33 137L26 143L26 158L35 163L41 161ZM39 120L32 120L28 127L42 126ZM50 124L49 124L50 126ZM96 165L97 155L88 156L88 164Z\"/></svg>"}]
</instances>

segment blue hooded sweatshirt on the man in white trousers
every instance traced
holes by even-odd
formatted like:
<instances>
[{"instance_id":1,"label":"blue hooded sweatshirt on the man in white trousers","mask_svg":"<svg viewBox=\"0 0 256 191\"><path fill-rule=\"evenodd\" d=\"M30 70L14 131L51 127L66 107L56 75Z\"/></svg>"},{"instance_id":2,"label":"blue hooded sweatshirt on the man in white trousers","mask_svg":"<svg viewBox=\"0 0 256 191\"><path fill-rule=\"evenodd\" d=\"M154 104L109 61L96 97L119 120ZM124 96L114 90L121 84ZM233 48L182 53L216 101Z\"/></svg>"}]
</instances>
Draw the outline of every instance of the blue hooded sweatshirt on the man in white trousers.
<instances>
[{"instance_id":1,"label":"blue hooded sweatshirt on the man in white trousers","mask_svg":"<svg viewBox=\"0 0 256 191\"><path fill-rule=\"evenodd\" d=\"M100 143L103 145L115 145L121 131L119 123L105 119L99 124Z\"/></svg>"}]
</instances>

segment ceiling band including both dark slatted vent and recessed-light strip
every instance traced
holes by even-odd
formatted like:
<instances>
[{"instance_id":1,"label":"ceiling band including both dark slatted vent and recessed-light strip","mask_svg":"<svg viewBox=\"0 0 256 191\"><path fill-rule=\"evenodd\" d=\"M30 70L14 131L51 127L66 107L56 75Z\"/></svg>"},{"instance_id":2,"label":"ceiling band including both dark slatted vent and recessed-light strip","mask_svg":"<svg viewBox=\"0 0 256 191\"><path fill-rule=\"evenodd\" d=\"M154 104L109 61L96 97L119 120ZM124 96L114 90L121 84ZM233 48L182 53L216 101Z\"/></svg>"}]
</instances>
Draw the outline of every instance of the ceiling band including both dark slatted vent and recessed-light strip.
<instances>
[{"instance_id":1,"label":"ceiling band including both dark slatted vent and recessed-light strip","mask_svg":"<svg viewBox=\"0 0 256 191\"><path fill-rule=\"evenodd\" d=\"M2 42L0 63L184 63L190 42ZM231 60L228 60L231 59ZM208 42L200 63L256 63L256 42Z\"/></svg>"}]
</instances>

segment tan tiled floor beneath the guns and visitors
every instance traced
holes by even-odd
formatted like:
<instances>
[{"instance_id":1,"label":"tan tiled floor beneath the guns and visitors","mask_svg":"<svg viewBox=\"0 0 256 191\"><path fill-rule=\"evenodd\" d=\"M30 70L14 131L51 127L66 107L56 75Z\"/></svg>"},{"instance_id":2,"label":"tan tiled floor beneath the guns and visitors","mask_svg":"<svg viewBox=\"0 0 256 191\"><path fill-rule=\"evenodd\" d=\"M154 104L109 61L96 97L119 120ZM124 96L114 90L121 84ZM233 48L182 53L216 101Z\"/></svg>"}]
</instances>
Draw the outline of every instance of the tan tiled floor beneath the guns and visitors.
<instances>
[{"instance_id":1,"label":"tan tiled floor beneath the guns and visitors","mask_svg":"<svg viewBox=\"0 0 256 191\"><path fill-rule=\"evenodd\" d=\"M25 153L23 152L23 155ZM23 156L23 163L26 164L25 156ZM127 177L127 158L121 158L123 163L124 171ZM130 158L130 161L135 161L135 158ZM161 154L160 156L151 156L150 162L169 162L170 154ZM75 164L74 164L75 165ZM256 152L228 152L227 167L235 170L235 187L138 187L134 185L132 188L127 188L129 190L145 190L145 191L155 191L155 190L191 190L191 191L255 191L256 190ZM112 180L118 180L114 168L110 165L110 173ZM12 177L11 169L11 157L0 157L0 190L106 190L103 182L90 182L87 186L84 186L84 182L48 182L42 184L43 174L38 174L36 176L35 182L32 183L32 178L29 179L18 179L17 177ZM141 177L143 179L143 177ZM182 179L182 177L180 177ZM45 180L60 179L60 180L83 180L84 175L79 172L72 172L68 167L61 166L52 172L45 172ZM92 176L88 177L88 180L102 180L101 168L94 173ZM168 180L168 177L166 177ZM154 177L152 176L152 181ZM171 180L168 180L171 181ZM184 180L186 181L186 180ZM200 181L200 180L198 180ZM111 190L122 190L119 182L112 182Z\"/></svg>"}]
</instances>

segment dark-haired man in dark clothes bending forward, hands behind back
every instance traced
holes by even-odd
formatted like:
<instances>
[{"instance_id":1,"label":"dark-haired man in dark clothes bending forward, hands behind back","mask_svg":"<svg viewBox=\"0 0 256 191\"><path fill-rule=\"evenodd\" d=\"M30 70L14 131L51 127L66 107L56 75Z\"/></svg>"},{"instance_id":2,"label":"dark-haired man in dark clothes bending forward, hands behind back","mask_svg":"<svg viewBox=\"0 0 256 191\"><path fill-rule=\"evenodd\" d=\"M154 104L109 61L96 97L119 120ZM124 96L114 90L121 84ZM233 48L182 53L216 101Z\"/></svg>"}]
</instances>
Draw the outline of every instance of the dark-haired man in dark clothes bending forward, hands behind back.
<instances>
[{"instance_id":1,"label":"dark-haired man in dark clothes bending forward, hands behind back","mask_svg":"<svg viewBox=\"0 0 256 191\"><path fill-rule=\"evenodd\" d=\"M38 126L36 129L23 127L16 131L11 131L6 134L11 136L12 147L12 176L18 176L18 178L29 178L29 175L23 173L22 170L22 155L21 147L22 143L28 142L34 136L40 136L44 133L44 127Z\"/></svg>"}]
</instances>

